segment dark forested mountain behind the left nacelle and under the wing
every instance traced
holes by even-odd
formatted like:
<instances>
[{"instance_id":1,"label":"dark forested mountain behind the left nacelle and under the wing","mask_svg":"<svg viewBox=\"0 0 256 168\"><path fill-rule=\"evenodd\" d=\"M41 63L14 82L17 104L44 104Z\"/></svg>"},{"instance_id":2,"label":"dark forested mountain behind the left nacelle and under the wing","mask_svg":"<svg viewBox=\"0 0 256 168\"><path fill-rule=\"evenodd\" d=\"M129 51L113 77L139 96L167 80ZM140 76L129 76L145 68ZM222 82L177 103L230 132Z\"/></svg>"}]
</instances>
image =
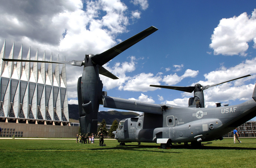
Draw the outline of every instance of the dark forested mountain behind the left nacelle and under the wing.
<instances>
[{"instance_id":1,"label":"dark forested mountain behind the left nacelle and under the wing","mask_svg":"<svg viewBox=\"0 0 256 168\"><path fill-rule=\"evenodd\" d=\"M79 111L77 104L69 104L69 118L74 120L79 120ZM124 112L124 111L99 111L98 112L98 122L101 122L103 119L107 122L108 125L112 125L114 120L117 122L126 119L139 116L135 112Z\"/></svg>"}]
</instances>

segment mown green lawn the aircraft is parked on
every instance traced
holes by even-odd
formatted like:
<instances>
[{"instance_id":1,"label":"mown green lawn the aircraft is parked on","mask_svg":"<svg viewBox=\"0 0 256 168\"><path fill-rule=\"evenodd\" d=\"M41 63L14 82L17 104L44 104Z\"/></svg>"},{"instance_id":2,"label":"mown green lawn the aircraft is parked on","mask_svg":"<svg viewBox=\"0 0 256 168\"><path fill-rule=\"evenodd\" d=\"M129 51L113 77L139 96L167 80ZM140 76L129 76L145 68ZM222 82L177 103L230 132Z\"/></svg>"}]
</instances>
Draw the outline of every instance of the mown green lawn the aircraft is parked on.
<instances>
[{"instance_id":1,"label":"mown green lawn the aircraft is parked on","mask_svg":"<svg viewBox=\"0 0 256 168\"><path fill-rule=\"evenodd\" d=\"M159 149L160 144L136 142L120 146L107 140L107 146L75 143L75 140L0 139L1 167L255 167L256 138L203 142L200 149L190 145L173 145Z\"/></svg>"}]
</instances>

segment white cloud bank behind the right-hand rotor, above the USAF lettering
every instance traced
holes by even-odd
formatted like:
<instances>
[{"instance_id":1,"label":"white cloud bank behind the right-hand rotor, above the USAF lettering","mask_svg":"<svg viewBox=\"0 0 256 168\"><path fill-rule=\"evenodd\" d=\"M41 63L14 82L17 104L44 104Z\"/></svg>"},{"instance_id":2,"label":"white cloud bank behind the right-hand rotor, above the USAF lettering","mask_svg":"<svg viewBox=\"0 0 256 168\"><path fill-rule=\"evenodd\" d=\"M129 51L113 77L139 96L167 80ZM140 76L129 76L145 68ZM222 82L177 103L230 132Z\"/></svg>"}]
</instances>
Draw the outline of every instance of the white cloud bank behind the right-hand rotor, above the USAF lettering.
<instances>
[{"instance_id":1,"label":"white cloud bank behind the right-hand rotor, above the USAF lettering","mask_svg":"<svg viewBox=\"0 0 256 168\"><path fill-rule=\"evenodd\" d=\"M246 82L250 82L250 80L253 79L254 83L256 78L255 68L256 57L245 60L234 67L226 68L222 66L218 70L204 74L205 81L196 82L200 83L202 86L221 83L248 74L252 75L250 77L238 79L233 82L224 83L204 90L205 105L208 105L209 107L216 107L215 103L217 102L221 102L222 105L224 105L232 104L237 100L245 101L251 99L255 85L246 84ZM196 83L192 83L190 86L194 86ZM193 93L183 92L182 97L182 99L165 100L162 103L187 107L188 99L189 97L193 97Z\"/></svg>"}]
</instances>

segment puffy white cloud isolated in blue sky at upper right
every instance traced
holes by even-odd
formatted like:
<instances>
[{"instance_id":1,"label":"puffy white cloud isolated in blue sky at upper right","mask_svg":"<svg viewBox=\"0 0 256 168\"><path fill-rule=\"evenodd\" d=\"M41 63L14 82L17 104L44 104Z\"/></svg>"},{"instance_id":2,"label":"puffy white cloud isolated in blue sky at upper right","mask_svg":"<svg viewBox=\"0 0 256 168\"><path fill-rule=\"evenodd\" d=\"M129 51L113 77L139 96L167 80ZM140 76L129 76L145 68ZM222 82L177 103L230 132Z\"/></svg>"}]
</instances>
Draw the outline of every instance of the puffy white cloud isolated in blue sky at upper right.
<instances>
[{"instance_id":1,"label":"puffy white cloud isolated in blue sky at upper right","mask_svg":"<svg viewBox=\"0 0 256 168\"><path fill-rule=\"evenodd\" d=\"M248 42L252 40L256 48L256 9L251 16L245 12L240 16L221 19L211 35L210 47L215 55L246 56Z\"/></svg>"}]
</instances>

